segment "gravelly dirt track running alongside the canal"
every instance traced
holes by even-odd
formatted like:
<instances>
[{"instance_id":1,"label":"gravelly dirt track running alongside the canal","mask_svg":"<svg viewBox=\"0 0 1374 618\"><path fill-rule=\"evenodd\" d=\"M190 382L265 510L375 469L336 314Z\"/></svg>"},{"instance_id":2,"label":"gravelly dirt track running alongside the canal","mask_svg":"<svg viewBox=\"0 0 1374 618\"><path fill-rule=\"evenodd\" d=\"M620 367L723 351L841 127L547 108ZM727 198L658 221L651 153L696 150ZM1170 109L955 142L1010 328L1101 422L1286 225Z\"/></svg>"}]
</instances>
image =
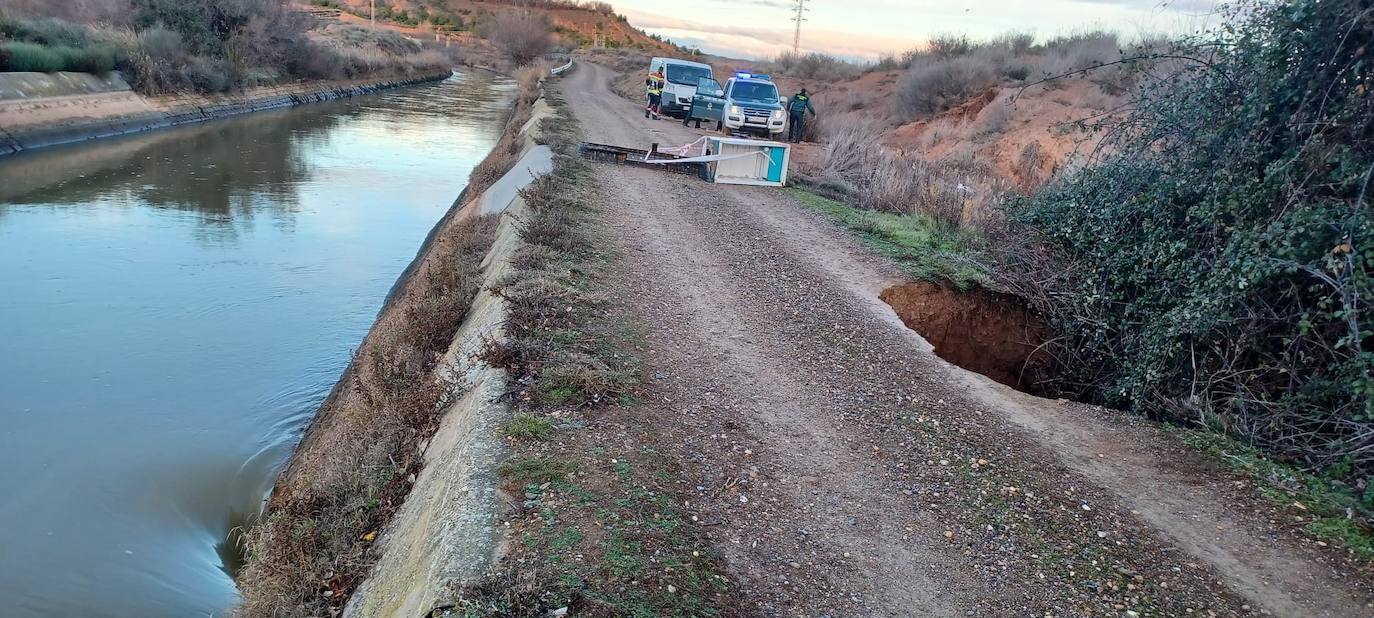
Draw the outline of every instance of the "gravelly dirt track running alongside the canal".
<instances>
[{"instance_id":1,"label":"gravelly dirt track running alongside the canal","mask_svg":"<svg viewBox=\"0 0 1374 618\"><path fill-rule=\"evenodd\" d=\"M580 67L585 139L677 146ZM948 365L878 294L901 277L785 191L598 166L644 334L653 446L691 478L753 615L1374 613L1304 541L1160 430Z\"/></svg>"}]
</instances>

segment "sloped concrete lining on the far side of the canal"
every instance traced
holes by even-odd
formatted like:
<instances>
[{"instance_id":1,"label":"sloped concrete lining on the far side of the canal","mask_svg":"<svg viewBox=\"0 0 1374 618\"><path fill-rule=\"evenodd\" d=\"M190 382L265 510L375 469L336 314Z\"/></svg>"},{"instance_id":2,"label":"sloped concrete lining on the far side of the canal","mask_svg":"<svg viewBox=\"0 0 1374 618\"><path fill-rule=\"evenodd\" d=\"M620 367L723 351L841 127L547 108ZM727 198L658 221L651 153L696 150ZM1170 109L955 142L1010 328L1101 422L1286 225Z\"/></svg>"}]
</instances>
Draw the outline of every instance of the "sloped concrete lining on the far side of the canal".
<instances>
[{"instance_id":1,"label":"sloped concrete lining on the far side of the canal","mask_svg":"<svg viewBox=\"0 0 1374 618\"><path fill-rule=\"evenodd\" d=\"M232 95L143 96L118 76L0 73L0 157L444 80L452 71L251 88Z\"/></svg>"}]
</instances>

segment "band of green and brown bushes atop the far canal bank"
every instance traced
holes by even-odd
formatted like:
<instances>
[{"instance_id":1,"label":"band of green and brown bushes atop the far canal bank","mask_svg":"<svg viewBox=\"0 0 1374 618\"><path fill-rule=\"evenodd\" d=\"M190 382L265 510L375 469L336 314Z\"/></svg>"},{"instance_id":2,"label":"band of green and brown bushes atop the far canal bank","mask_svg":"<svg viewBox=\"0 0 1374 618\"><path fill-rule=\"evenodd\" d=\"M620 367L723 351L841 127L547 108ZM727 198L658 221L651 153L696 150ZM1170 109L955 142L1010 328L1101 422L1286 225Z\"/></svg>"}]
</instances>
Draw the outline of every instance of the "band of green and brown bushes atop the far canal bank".
<instances>
[{"instance_id":1,"label":"band of green and brown bushes atop the far canal bank","mask_svg":"<svg viewBox=\"0 0 1374 618\"><path fill-rule=\"evenodd\" d=\"M82 0L63 7L37 0L0 0L25 15L115 15L124 23L96 26L55 18L0 15L5 70L104 73L120 69L148 95L225 92L283 77L334 80L379 71L414 74L448 60L400 34L356 26L311 32L282 0ZM330 1L330 0L320 0ZM334 44L320 40L335 34ZM15 47L16 51L11 51Z\"/></svg>"}]
</instances>

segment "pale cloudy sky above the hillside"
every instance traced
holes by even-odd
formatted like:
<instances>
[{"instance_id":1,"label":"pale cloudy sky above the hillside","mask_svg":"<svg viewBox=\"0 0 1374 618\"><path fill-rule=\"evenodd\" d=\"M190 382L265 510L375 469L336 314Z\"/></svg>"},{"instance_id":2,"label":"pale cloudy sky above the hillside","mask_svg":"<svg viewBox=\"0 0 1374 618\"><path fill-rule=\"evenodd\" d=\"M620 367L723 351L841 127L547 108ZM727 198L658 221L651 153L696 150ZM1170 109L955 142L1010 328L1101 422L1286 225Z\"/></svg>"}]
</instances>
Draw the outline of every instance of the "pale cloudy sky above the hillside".
<instances>
[{"instance_id":1,"label":"pale cloudy sky above the hillside","mask_svg":"<svg viewBox=\"0 0 1374 618\"><path fill-rule=\"evenodd\" d=\"M675 43L731 58L772 58L791 49L794 0L614 0L629 22ZM991 38L1007 32L1052 37L1107 29L1198 30L1215 0L807 0L802 52L872 59L918 47L936 34Z\"/></svg>"}]
</instances>

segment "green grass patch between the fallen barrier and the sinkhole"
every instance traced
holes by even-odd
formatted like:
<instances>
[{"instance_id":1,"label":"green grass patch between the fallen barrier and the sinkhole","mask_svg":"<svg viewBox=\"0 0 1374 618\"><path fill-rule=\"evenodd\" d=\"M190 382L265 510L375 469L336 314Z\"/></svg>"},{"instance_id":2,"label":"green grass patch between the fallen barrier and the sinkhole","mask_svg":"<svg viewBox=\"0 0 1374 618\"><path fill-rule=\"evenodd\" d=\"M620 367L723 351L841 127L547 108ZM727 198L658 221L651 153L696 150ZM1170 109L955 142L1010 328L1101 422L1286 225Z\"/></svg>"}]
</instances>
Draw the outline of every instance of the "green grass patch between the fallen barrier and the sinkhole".
<instances>
[{"instance_id":1,"label":"green grass patch between the fallen barrier and the sinkhole","mask_svg":"<svg viewBox=\"0 0 1374 618\"><path fill-rule=\"evenodd\" d=\"M960 290L988 286L988 273L974 261L977 239L926 214L864 210L805 188L789 188L802 206L823 214L859 238L874 253L916 279L945 279Z\"/></svg>"}]
</instances>

